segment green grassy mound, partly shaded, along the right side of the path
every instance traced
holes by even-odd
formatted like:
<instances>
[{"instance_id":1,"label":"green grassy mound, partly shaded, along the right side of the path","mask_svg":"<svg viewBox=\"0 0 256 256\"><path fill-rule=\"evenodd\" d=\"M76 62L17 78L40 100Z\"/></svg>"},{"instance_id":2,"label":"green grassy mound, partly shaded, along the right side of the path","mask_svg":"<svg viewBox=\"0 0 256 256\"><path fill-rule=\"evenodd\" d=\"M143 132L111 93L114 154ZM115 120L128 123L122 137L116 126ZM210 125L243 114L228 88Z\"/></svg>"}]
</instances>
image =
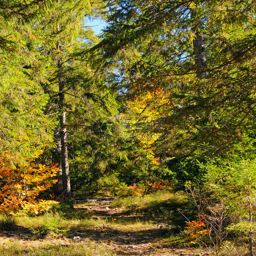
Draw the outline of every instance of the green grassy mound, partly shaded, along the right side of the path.
<instances>
[{"instance_id":1,"label":"green grassy mound, partly shaded, along the right side of the path","mask_svg":"<svg viewBox=\"0 0 256 256\"><path fill-rule=\"evenodd\" d=\"M187 221L184 215L189 218L196 215L194 207L185 195L174 194L168 190L160 190L142 197L116 198L113 207L125 208L139 220L164 222L163 227L168 227L169 232L174 235L184 230Z\"/></svg>"}]
</instances>

